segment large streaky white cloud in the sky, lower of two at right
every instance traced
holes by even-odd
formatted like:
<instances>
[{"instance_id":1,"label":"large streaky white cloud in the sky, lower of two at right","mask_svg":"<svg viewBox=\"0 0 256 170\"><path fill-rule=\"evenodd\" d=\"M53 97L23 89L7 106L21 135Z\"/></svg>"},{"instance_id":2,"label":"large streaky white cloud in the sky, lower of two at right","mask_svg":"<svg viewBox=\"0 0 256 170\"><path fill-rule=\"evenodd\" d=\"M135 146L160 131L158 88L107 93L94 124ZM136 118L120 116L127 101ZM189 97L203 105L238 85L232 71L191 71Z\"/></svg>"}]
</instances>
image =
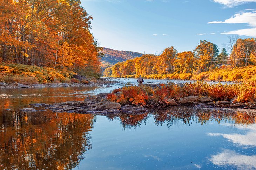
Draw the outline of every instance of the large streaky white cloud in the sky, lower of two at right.
<instances>
[{"instance_id":1,"label":"large streaky white cloud in the sky, lower of two at right","mask_svg":"<svg viewBox=\"0 0 256 170\"><path fill-rule=\"evenodd\" d=\"M238 34L256 37L256 11L252 12L242 12L235 14L233 17L226 19L225 21L212 21L208 22L208 24L220 24L220 23L229 23L229 24L241 24L247 23L252 28L247 29L239 29L229 32L223 32L221 34Z\"/></svg>"}]
</instances>

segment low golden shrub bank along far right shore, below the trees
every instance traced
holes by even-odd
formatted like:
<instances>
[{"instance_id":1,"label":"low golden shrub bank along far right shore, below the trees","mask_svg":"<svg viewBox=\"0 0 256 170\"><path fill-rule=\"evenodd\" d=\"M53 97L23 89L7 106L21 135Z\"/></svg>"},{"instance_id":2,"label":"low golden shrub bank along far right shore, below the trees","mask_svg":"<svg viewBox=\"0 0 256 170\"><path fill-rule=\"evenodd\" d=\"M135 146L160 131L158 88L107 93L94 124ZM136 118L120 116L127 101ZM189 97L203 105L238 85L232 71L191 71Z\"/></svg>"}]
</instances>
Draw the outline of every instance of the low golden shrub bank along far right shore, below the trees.
<instances>
[{"instance_id":1,"label":"low golden shrub bank along far right shore, below the trees","mask_svg":"<svg viewBox=\"0 0 256 170\"><path fill-rule=\"evenodd\" d=\"M150 74L142 75L146 79L181 79L181 80L207 80L207 81L246 81L256 77L256 66L240 68L214 69L212 71L193 73L173 74ZM111 76L116 77L116 76ZM122 78L137 78L139 75L124 75Z\"/></svg>"}]
</instances>

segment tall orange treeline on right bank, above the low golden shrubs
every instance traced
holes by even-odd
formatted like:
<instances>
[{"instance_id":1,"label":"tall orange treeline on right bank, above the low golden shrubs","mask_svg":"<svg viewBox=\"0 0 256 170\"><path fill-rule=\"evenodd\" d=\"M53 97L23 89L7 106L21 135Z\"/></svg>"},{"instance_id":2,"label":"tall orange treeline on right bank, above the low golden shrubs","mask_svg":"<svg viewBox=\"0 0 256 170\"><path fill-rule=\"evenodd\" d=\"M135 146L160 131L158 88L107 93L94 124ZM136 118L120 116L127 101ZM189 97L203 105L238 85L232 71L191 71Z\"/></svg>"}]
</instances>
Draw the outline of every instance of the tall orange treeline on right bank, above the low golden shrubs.
<instances>
[{"instance_id":1,"label":"tall orange treeline on right bank, above the low golden shrubs","mask_svg":"<svg viewBox=\"0 0 256 170\"><path fill-rule=\"evenodd\" d=\"M243 67L256 64L256 42L254 38L230 37L229 44L218 49L216 44L201 40L193 51L178 51L171 46L161 55L146 54L135 59L120 62L106 68L107 77L127 77L127 75L151 75L172 73L199 74L225 64L223 67Z\"/></svg>"}]
</instances>

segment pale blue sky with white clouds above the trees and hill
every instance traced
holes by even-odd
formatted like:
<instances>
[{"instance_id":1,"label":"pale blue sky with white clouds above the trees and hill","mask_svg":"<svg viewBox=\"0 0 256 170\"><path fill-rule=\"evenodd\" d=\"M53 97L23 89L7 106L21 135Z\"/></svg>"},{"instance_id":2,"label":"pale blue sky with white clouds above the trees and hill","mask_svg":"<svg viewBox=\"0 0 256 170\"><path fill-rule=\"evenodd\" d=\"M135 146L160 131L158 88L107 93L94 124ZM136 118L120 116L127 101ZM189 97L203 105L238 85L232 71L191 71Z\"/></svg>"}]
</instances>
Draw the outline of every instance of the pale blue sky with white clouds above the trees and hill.
<instances>
[{"instance_id":1,"label":"pale blue sky with white clouds above the trees and hill","mask_svg":"<svg viewBox=\"0 0 256 170\"><path fill-rule=\"evenodd\" d=\"M93 17L100 46L160 53L195 49L200 40L220 49L229 37L256 38L256 0L81 0Z\"/></svg>"}]
</instances>

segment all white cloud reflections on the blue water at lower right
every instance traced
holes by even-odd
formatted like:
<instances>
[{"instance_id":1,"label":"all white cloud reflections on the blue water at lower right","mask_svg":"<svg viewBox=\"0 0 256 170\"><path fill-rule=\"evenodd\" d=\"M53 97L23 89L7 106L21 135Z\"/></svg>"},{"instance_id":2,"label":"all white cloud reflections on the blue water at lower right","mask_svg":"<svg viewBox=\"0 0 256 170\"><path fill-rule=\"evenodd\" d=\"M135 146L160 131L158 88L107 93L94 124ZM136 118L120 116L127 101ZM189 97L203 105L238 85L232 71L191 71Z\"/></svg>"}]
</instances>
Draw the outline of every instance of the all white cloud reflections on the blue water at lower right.
<instances>
[{"instance_id":1,"label":"all white cloud reflections on the blue water at lower right","mask_svg":"<svg viewBox=\"0 0 256 170\"><path fill-rule=\"evenodd\" d=\"M228 125L228 124L224 124ZM244 149L254 150L256 147L256 124L236 125L238 129L247 129L246 134L224 134L224 133L208 133L209 136L223 136L229 142L236 144ZM224 149L221 153L212 155L210 161L218 166L234 166L237 169L256 169L256 155L243 155L230 149Z\"/></svg>"}]
</instances>

